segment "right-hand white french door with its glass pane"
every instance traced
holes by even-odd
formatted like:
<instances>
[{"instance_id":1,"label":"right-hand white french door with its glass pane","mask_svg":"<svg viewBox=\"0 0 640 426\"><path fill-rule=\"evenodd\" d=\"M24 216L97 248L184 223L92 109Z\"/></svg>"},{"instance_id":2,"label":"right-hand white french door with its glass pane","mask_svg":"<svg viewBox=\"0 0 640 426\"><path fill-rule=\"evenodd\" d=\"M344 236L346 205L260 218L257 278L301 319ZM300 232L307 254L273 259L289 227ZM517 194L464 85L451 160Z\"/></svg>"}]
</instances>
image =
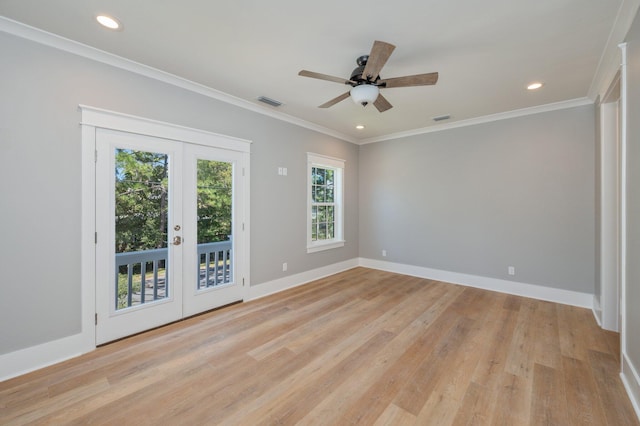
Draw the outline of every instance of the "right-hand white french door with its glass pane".
<instances>
[{"instance_id":1,"label":"right-hand white french door with its glass pane","mask_svg":"<svg viewBox=\"0 0 640 426\"><path fill-rule=\"evenodd\" d=\"M241 300L243 154L185 145L183 315Z\"/></svg>"}]
</instances>

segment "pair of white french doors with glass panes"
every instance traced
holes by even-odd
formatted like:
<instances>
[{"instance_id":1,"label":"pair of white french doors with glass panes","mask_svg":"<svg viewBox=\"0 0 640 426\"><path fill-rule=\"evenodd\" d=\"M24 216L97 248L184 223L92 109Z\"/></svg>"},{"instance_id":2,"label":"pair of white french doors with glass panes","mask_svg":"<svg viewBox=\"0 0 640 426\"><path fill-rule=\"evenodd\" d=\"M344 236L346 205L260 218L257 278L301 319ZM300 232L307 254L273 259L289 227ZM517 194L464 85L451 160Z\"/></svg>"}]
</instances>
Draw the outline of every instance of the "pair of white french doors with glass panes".
<instances>
[{"instance_id":1,"label":"pair of white french doors with glass panes","mask_svg":"<svg viewBox=\"0 0 640 426\"><path fill-rule=\"evenodd\" d=\"M96 343L244 296L246 153L96 129Z\"/></svg>"}]
</instances>

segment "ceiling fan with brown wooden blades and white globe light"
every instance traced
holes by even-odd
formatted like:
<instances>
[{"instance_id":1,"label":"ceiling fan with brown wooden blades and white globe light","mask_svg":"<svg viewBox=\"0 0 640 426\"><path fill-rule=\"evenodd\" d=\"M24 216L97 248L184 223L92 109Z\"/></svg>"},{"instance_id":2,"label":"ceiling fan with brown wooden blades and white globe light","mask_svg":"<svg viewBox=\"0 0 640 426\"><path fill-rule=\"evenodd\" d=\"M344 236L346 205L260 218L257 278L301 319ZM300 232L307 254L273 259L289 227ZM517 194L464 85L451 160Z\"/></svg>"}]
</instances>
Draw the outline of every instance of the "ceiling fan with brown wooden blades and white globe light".
<instances>
[{"instance_id":1,"label":"ceiling fan with brown wooden blades and white globe light","mask_svg":"<svg viewBox=\"0 0 640 426\"><path fill-rule=\"evenodd\" d=\"M380 112L384 112L393 106L380 94L380 89L391 89L393 87L409 86L429 86L436 84L438 73L408 75L395 78L381 78L380 70L391 56L396 47L384 41L375 41L371 48L371 53L360 56L356 63L357 68L351 73L349 79L334 77L327 74L320 74L313 71L302 70L298 73L303 77L317 78L320 80L333 81L351 86L351 90L331 99L320 105L319 108L329 108L338 102L347 99L349 96L355 103L367 106L370 103Z\"/></svg>"}]
</instances>

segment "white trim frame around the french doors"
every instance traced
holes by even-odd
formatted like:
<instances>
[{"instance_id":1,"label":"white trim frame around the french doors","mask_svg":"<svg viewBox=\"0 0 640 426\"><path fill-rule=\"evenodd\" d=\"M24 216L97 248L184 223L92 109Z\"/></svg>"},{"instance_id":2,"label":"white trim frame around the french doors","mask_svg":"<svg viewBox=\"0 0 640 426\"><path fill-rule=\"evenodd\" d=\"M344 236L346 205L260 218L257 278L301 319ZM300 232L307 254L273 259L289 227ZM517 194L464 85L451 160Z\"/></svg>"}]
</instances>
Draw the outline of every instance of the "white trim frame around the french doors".
<instances>
[{"instance_id":1,"label":"white trim frame around the french doors","mask_svg":"<svg viewBox=\"0 0 640 426\"><path fill-rule=\"evenodd\" d=\"M95 207L95 147L96 129L110 129L158 138L172 139L236 151L242 154L243 170L245 178L245 191L242 194L242 210L237 212L239 220L243 224L244 232L237 235L238 246L242 247L235 253L239 268L239 277L244 282L243 299L247 297L250 280L250 152L251 142L234 137L219 135L203 130L192 129L170 123L150 120L127 114L121 114L90 106L79 106L82 115L82 335L83 340L89 345L89 339L95 347L95 321L96 321L96 207Z\"/></svg>"}]
</instances>

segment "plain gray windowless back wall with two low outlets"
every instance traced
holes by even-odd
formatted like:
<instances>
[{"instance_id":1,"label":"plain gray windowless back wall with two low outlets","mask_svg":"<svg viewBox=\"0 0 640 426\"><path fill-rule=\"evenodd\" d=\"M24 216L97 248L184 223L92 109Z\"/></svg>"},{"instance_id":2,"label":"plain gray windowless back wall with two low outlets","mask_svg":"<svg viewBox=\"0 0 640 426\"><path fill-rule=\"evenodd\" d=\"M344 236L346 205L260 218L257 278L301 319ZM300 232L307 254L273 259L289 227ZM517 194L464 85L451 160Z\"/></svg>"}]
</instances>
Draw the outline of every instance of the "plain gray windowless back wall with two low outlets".
<instances>
[{"instance_id":1,"label":"plain gray windowless back wall with two low outlets","mask_svg":"<svg viewBox=\"0 0 640 426\"><path fill-rule=\"evenodd\" d=\"M362 146L360 256L593 293L594 116L584 106Z\"/></svg>"}]
</instances>

